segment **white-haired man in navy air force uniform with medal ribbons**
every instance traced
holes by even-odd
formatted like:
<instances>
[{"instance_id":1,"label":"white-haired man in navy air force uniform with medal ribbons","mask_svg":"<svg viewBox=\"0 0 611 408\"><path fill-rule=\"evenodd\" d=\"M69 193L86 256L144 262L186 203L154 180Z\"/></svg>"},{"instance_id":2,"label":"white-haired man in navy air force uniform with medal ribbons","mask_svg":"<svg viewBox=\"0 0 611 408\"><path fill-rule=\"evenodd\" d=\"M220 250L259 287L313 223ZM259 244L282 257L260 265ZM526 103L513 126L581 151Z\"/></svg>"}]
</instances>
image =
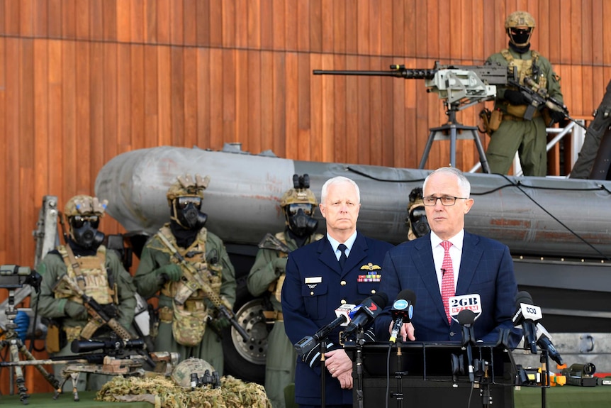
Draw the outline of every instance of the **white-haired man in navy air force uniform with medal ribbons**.
<instances>
[{"instance_id":1,"label":"white-haired man in navy air force uniform with medal ribbons","mask_svg":"<svg viewBox=\"0 0 611 408\"><path fill-rule=\"evenodd\" d=\"M341 304L359 304L378 290L380 265L392 245L358 233L360 203L353 180L327 180L319 204L327 223L326 238L288 255L281 303L285 331L293 344L333 321ZM340 248L347 258L342 259ZM326 376L326 407L352 407L352 360L339 344L342 329L337 327L328 336L325 367L320 366L320 355L315 356L318 348L298 356L295 401L300 407L320 407L321 374Z\"/></svg>"}]
</instances>

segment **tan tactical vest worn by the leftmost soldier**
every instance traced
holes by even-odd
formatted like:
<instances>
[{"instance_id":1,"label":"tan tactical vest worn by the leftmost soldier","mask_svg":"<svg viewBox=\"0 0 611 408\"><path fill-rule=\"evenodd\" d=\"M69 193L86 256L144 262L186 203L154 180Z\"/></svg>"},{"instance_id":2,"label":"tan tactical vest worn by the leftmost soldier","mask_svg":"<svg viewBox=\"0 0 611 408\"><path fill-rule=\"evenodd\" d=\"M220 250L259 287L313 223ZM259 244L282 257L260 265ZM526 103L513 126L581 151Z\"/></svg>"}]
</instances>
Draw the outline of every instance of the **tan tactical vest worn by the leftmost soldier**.
<instances>
[{"instance_id":1,"label":"tan tactical vest worn by the leftmost soldier","mask_svg":"<svg viewBox=\"0 0 611 408\"><path fill-rule=\"evenodd\" d=\"M113 303L116 294L115 287L108 284L108 270L106 270L106 247L99 246L96 255L79 256L75 260L79 265L79 270L74 270L72 262L69 260L68 251L65 246L57 247L57 251L62 255L67 268L67 275L76 282L84 282L82 290L89 297L93 297L99 304ZM80 284L79 284L80 285ZM72 302L82 304L83 300L78 295L67 296L55 292L55 298L67 297Z\"/></svg>"}]
</instances>

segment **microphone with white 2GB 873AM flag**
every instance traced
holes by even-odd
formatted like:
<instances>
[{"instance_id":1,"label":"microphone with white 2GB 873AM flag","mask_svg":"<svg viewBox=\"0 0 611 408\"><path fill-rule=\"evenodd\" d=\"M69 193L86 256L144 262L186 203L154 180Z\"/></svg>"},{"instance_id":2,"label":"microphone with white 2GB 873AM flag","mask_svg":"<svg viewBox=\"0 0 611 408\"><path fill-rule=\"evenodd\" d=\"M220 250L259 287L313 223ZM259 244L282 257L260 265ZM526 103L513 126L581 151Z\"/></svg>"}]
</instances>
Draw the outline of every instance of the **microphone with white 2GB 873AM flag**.
<instances>
[{"instance_id":1,"label":"microphone with white 2GB 873AM flag","mask_svg":"<svg viewBox=\"0 0 611 408\"><path fill-rule=\"evenodd\" d=\"M452 319L462 328L462 344L466 346L467 365L469 365L469 381L475 381L473 370L473 351L471 344L476 343L473 323L481 316L481 297L478 293L461 294L448 299L449 312Z\"/></svg>"}]
</instances>

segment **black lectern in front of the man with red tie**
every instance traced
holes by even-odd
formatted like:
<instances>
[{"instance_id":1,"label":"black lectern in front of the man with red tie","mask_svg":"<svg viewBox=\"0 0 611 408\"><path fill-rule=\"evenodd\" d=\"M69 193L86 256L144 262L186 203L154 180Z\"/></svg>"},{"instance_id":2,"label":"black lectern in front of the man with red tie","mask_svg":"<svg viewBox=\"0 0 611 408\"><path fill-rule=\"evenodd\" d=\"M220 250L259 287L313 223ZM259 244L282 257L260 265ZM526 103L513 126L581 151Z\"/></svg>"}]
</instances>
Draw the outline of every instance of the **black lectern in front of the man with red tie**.
<instances>
[{"instance_id":1,"label":"black lectern in front of the man with red tie","mask_svg":"<svg viewBox=\"0 0 611 408\"><path fill-rule=\"evenodd\" d=\"M383 408L387 397L388 407L514 405L515 367L503 348L478 343L472 361L459 343L348 342L344 348L354 362L354 407Z\"/></svg>"}]
</instances>

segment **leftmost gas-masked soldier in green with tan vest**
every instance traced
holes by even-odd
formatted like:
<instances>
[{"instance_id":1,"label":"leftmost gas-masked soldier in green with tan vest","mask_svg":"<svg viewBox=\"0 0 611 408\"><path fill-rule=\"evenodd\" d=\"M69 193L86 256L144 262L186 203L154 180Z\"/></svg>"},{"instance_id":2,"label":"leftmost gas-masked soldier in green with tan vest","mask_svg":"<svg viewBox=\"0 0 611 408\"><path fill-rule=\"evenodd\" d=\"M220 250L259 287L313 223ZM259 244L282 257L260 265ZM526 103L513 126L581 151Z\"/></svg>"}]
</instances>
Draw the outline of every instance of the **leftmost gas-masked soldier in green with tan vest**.
<instances>
[{"instance_id":1,"label":"leftmost gas-masked soldier in green with tan vest","mask_svg":"<svg viewBox=\"0 0 611 408\"><path fill-rule=\"evenodd\" d=\"M93 298L109 317L115 318L123 328L130 330L135 308L135 285L114 250L103 246L104 234L99 231L100 220L108 202L97 197L77 195L68 200L64 216L68 224L66 245L45 255L38 265L43 277L40 294L33 294L33 307L50 319L47 331L47 351L51 355L72 355L71 343L82 339L91 316L82 298L58 289L62 275L79 282L86 295ZM88 330L85 330L88 331ZM108 326L97 329L94 338L108 338L113 333ZM89 335L87 335L89 336ZM62 365L54 365L56 377L61 376ZM110 377L85 373L79 377L78 390L99 390ZM85 385L87 382L87 385ZM67 383L67 390L72 383Z\"/></svg>"}]
</instances>

